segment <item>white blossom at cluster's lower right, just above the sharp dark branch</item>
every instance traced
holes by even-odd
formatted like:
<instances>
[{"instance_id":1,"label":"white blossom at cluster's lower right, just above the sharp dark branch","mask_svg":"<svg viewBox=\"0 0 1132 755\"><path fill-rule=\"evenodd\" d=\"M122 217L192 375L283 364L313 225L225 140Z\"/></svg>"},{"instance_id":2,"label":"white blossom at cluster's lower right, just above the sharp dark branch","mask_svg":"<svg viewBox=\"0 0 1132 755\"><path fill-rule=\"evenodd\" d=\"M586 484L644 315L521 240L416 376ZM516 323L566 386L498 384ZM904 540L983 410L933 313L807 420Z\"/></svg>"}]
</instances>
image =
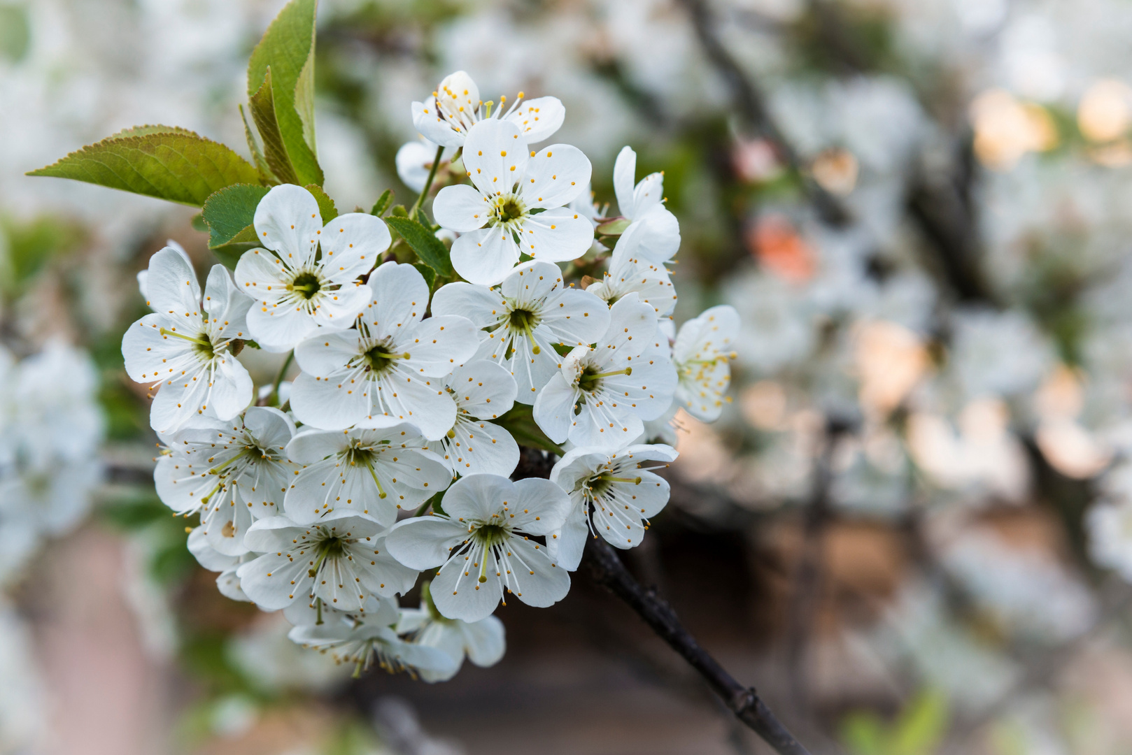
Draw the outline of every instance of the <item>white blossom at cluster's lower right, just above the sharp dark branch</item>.
<instances>
[{"instance_id":1,"label":"white blossom at cluster's lower right, just above the sharp dark branch","mask_svg":"<svg viewBox=\"0 0 1132 755\"><path fill-rule=\"evenodd\" d=\"M576 569L586 535L617 548L635 548L644 540L649 518L668 503L668 481L650 472L676 460L671 446L626 446L610 453L573 448L555 464L550 480L569 495L573 506L566 524L549 543L561 565Z\"/></svg>"}]
</instances>

